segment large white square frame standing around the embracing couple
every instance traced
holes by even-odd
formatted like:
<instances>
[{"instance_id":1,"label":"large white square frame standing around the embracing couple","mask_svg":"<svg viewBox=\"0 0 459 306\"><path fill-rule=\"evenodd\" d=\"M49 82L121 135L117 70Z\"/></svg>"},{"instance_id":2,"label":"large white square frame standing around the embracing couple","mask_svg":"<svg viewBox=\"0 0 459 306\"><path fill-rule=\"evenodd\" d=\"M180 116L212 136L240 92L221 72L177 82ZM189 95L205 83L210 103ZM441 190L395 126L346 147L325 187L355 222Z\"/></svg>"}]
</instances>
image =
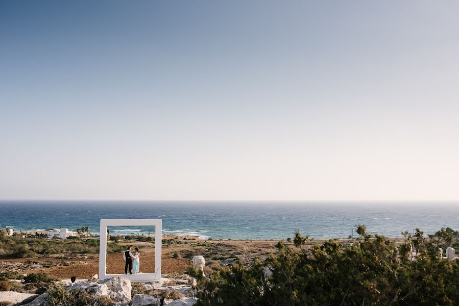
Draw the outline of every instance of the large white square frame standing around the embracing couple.
<instances>
[{"instance_id":1,"label":"large white square frame standing around the embracing couple","mask_svg":"<svg viewBox=\"0 0 459 306\"><path fill-rule=\"evenodd\" d=\"M129 278L132 282L151 282L161 280L162 251L161 219L101 219L101 238L99 246L99 278L114 276ZM107 227L108 226L155 226L155 271L138 274L107 274ZM119 254L120 264L124 267L123 253Z\"/></svg>"}]
</instances>

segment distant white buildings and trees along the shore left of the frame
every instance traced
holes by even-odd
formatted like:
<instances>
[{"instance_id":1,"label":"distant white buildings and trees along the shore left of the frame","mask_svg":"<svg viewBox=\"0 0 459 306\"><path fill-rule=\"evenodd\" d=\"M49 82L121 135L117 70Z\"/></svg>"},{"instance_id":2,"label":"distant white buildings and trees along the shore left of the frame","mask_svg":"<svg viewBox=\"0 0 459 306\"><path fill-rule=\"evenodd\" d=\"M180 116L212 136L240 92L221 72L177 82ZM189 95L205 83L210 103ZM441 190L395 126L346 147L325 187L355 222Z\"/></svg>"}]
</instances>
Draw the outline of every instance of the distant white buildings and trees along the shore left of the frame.
<instances>
[{"instance_id":1,"label":"distant white buildings and trees along the shore left of the frame","mask_svg":"<svg viewBox=\"0 0 459 306\"><path fill-rule=\"evenodd\" d=\"M31 230L31 231L20 231L15 232L13 228L2 228L0 227L0 233L8 237L17 237L17 238L60 238L60 239L67 239L69 237L91 237L91 238L100 238L98 234L91 234L89 233L89 227L83 226L82 228L78 228L76 232L68 230L65 227L59 227L58 229L51 229L51 230Z\"/></svg>"}]
</instances>

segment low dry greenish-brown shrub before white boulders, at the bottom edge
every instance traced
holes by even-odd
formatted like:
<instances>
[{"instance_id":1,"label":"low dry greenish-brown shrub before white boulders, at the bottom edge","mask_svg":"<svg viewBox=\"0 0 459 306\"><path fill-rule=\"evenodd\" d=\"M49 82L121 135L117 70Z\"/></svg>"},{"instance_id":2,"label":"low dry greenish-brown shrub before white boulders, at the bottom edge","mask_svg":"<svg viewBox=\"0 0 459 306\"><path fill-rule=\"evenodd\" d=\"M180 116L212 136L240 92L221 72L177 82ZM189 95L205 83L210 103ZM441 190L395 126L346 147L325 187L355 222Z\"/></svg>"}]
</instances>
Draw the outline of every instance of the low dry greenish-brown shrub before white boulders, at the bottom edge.
<instances>
[{"instance_id":1,"label":"low dry greenish-brown shrub before white boulders, at the bottom edge","mask_svg":"<svg viewBox=\"0 0 459 306\"><path fill-rule=\"evenodd\" d=\"M62 285L50 287L46 301L51 306L109 306L113 301L108 296L97 296L85 291L69 291Z\"/></svg>"}]
</instances>

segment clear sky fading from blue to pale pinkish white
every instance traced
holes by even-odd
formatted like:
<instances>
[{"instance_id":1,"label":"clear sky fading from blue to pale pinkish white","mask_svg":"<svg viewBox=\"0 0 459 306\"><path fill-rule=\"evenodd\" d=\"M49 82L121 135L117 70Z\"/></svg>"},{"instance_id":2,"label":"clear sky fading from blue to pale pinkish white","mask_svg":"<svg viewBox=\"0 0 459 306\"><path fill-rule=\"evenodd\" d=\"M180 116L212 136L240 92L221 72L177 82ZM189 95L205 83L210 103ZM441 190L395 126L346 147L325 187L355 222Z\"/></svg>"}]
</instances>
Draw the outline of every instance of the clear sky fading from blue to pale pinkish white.
<instances>
[{"instance_id":1,"label":"clear sky fading from blue to pale pinkish white","mask_svg":"<svg viewBox=\"0 0 459 306\"><path fill-rule=\"evenodd\" d=\"M459 200L458 11L1 1L0 198Z\"/></svg>"}]
</instances>

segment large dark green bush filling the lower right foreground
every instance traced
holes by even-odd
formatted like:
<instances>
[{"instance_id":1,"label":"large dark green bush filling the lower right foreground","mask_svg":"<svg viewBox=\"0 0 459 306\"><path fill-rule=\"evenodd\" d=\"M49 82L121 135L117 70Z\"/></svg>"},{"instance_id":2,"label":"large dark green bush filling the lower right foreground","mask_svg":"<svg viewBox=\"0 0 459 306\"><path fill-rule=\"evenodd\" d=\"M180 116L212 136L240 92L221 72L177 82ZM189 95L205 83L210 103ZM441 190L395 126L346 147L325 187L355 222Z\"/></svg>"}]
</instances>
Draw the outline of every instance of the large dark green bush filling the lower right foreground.
<instances>
[{"instance_id":1,"label":"large dark green bush filling the lower right foreground","mask_svg":"<svg viewBox=\"0 0 459 306\"><path fill-rule=\"evenodd\" d=\"M195 274L201 289L197 306L459 304L459 260L438 256L439 245L455 243L453 233L442 229L424 237L417 230L397 248L367 234L363 225L357 233L363 237L358 246L329 240L310 248L308 237L297 233L295 247L281 241L263 263L245 268L238 262L209 279ZM419 250L415 260L410 244ZM267 268L272 275L265 275Z\"/></svg>"}]
</instances>

